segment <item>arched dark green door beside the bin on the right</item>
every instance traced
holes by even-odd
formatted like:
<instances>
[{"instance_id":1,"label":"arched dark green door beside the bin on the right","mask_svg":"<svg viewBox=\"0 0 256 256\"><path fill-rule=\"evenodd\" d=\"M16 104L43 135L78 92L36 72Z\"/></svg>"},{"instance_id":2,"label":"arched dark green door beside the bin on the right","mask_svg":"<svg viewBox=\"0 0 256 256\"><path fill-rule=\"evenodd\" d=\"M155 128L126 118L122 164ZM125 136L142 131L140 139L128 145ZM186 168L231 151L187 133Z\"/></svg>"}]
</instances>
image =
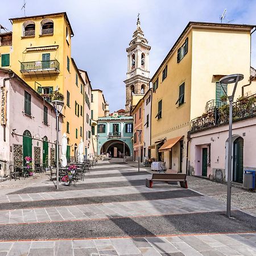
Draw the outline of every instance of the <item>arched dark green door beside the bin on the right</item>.
<instances>
[{"instance_id":1,"label":"arched dark green door beside the bin on the right","mask_svg":"<svg viewBox=\"0 0 256 256\"><path fill-rule=\"evenodd\" d=\"M234 141L233 146L233 181L243 182L243 139Z\"/></svg>"}]
</instances>

